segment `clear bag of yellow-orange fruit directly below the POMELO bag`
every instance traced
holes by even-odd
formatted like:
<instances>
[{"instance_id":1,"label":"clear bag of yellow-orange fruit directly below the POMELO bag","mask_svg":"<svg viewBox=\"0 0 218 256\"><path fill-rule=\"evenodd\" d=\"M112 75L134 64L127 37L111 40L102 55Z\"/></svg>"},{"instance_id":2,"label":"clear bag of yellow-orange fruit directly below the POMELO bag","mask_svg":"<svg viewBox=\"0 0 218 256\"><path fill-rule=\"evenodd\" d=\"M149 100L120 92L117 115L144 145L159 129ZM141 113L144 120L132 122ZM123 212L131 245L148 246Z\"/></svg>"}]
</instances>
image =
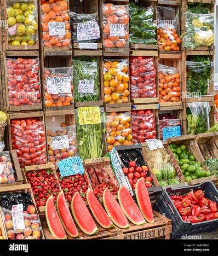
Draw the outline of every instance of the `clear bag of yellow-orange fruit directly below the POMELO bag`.
<instances>
[{"instance_id":1,"label":"clear bag of yellow-orange fruit directly below the POMELO bag","mask_svg":"<svg viewBox=\"0 0 218 256\"><path fill-rule=\"evenodd\" d=\"M128 59L103 59L104 101L129 102Z\"/></svg>"}]
</instances>

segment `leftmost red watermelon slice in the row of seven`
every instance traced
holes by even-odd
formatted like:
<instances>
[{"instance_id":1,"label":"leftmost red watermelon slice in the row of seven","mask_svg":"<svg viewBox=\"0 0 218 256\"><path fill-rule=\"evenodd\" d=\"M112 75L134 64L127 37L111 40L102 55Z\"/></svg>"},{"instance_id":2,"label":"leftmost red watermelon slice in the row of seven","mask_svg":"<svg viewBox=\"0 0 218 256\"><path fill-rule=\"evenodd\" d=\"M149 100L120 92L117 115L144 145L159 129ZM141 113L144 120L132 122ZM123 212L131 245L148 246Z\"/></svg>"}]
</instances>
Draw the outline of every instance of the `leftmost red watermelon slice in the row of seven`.
<instances>
[{"instance_id":1,"label":"leftmost red watermelon slice in the row of seven","mask_svg":"<svg viewBox=\"0 0 218 256\"><path fill-rule=\"evenodd\" d=\"M67 239L66 233L57 215L52 195L46 201L46 221L50 232L56 239Z\"/></svg>"}]
</instances>

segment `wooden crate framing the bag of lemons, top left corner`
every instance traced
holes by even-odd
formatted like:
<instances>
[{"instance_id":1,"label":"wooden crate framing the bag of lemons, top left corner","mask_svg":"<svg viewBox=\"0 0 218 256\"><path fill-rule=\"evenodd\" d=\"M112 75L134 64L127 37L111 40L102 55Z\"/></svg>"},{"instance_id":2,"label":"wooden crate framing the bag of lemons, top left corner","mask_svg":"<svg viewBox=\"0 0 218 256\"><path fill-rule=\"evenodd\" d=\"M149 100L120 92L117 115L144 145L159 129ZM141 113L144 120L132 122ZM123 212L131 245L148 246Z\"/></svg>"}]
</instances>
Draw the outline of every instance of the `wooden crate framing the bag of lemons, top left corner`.
<instances>
[{"instance_id":1,"label":"wooden crate framing the bag of lemons, top left corner","mask_svg":"<svg viewBox=\"0 0 218 256\"><path fill-rule=\"evenodd\" d=\"M29 4L32 3L35 5L36 7L36 17L35 17L35 20L36 22L38 23L38 29L35 31L35 35L38 37L38 40L35 42L34 45L25 45L25 46L22 46L22 45L19 45L19 46L12 46L12 45L9 45L8 43L8 25L7 25L7 5L8 5L8 2L10 2L10 4L13 2L16 2L14 0L2 0L1 1L1 20L2 21L5 21L5 22L2 22L2 33L1 33L1 41L2 41L2 47L3 47L3 51L8 51L8 50L20 50L20 51L23 51L23 50L29 50L29 51L32 51L32 50L39 50L39 20L38 20L38 10L37 10L37 6L38 6L38 3L37 3L37 0L31 0L29 1ZM25 1L23 1L25 2ZM22 52L23 53L23 52ZM21 53L19 53L21 54Z\"/></svg>"}]
</instances>

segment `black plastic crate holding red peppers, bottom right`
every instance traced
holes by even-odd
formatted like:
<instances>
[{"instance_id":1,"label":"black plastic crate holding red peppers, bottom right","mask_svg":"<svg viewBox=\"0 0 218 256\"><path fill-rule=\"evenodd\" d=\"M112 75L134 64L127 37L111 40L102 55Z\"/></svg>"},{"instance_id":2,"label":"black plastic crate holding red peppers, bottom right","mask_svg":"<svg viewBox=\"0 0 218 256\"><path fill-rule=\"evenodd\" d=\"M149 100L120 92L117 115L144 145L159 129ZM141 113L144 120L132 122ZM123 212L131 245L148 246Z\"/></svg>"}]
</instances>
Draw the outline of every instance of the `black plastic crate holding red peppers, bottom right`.
<instances>
[{"instance_id":1,"label":"black plastic crate holding red peppers, bottom right","mask_svg":"<svg viewBox=\"0 0 218 256\"><path fill-rule=\"evenodd\" d=\"M212 231L218 227L218 219L212 221L202 221L198 223L185 222L178 213L178 210L172 203L171 195L184 195L190 190L193 192L201 189L205 197L218 203L218 191L211 181L205 181L195 186L185 186L181 188L165 188L158 196L153 209L161 212L167 218L172 220L171 239L178 239L186 233L198 233L202 231Z\"/></svg>"}]
</instances>

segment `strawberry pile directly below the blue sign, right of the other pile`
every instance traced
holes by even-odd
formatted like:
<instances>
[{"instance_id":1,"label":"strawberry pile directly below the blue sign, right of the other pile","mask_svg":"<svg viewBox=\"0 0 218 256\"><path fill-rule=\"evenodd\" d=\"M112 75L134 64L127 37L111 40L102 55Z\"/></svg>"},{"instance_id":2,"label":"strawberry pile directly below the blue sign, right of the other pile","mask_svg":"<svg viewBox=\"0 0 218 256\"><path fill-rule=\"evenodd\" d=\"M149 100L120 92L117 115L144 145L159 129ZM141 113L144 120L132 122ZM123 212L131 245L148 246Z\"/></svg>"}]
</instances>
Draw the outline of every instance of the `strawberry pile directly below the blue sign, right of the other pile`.
<instances>
[{"instance_id":1,"label":"strawberry pile directly below the blue sign, right of the other pile","mask_svg":"<svg viewBox=\"0 0 218 256\"><path fill-rule=\"evenodd\" d=\"M86 201L86 191L88 189L88 179L84 174L76 174L62 177L57 170L57 177L63 190L66 201L70 204L73 195L78 191L83 201Z\"/></svg>"}]
</instances>

